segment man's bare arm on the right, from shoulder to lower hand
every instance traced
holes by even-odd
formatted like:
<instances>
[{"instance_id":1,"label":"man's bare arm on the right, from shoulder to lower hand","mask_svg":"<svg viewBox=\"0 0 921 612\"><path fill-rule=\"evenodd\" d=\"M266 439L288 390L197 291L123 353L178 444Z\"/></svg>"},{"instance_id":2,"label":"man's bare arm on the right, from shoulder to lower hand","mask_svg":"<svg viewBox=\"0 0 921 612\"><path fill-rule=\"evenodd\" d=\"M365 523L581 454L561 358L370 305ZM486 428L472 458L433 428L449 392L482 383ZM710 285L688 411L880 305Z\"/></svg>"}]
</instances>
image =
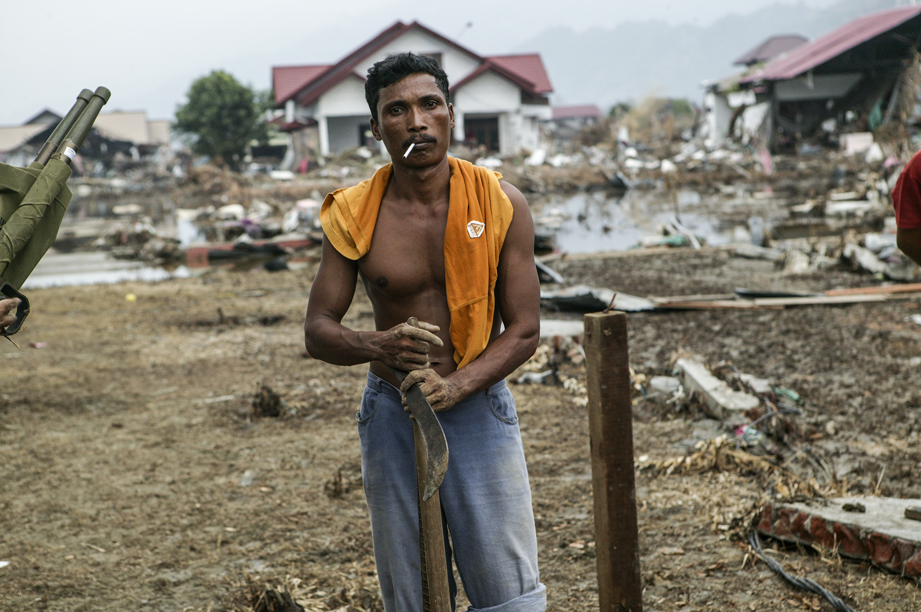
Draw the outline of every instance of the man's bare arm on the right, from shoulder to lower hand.
<instances>
[{"instance_id":1,"label":"man's bare arm on the right, from shoulder to lower hand","mask_svg":"<svg viewBox=\"0 0 921 612\"><path fill-rule=\"evenodd\" d=\"M506 378L534 354L540 341L541 283L534 266L534 221L521 192L505 181L500 185L512 203L513 215L499 254L493 316L501 316L506 328L479 357L444 379L433 369L406 376L401 390L405 393L418 382L436 412Z\"/></svg>"}]
</instances>

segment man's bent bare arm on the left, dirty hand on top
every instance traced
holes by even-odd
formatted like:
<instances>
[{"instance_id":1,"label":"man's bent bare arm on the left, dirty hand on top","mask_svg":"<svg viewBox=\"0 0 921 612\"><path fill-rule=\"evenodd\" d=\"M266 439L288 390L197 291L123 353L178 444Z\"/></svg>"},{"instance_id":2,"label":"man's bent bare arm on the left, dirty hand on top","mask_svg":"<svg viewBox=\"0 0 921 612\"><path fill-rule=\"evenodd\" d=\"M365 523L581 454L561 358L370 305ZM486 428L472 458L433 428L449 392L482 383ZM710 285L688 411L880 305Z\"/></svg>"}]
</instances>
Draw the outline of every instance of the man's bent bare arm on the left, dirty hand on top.
<instances>
[{"instance_id":1,"label":"man's bent bare arm on the left, dirty hand on top","mask_svg":"<svg viewBox=\"0 0 921 612\"><path fill-rule=\"evenodd\" d=\"M356 332L342 324L355 297L358 264L323 237L320 269L313 279L304 323L304 347L310 357L336 366L381 361L410 371L428 368L428 346L442 346L437 325L401 323L382 332Z\"/></svg>"}]
</instances>

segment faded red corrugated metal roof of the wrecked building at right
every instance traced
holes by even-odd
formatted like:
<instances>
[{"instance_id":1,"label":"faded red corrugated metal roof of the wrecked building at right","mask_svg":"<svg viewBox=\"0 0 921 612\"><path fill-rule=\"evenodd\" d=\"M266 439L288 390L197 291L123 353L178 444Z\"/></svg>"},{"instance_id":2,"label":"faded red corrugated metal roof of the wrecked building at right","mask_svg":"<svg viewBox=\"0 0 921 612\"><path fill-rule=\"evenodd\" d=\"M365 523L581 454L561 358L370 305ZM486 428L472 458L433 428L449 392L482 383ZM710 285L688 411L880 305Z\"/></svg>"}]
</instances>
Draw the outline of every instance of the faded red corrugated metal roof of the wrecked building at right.
<instances>
[{"instance_id":1,"label":"faded red corrugated metal roof of the wrecked building at right","mask_svg":"<svg viewBox=\"0 0 921 612\"><path fill-rule=\"evenodd\" d=\"M768 62L764 68L743 77L740 82L791 79L834 59L862 42L902 25L919 14L921 14L921 6L903 6L858 17L845 26L834 29L773 62Z\"/></svg>"}]
</instances>

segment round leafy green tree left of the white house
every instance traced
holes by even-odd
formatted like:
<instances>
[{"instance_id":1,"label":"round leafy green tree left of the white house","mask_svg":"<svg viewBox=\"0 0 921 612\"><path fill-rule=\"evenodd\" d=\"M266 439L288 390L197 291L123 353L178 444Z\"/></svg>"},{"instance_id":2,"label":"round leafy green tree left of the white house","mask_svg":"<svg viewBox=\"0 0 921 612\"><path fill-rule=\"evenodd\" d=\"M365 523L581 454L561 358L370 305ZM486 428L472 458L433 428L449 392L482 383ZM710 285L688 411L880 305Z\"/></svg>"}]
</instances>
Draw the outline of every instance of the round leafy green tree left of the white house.
<instances>
[{"instance_id":1,"label":"round leafy green tree left of the white house","mask_svg":"<svg viewBox=\"0 0 921 612\"><path fill-rule=\"evenodd\" d=\"M242 85L232 74L216 70L192 83L188 98L176 109L173 129L193 136L194 153L209 155L239 170L247 145L267 137L262 120L265 94Z\"/></svg>"}]
</instances>

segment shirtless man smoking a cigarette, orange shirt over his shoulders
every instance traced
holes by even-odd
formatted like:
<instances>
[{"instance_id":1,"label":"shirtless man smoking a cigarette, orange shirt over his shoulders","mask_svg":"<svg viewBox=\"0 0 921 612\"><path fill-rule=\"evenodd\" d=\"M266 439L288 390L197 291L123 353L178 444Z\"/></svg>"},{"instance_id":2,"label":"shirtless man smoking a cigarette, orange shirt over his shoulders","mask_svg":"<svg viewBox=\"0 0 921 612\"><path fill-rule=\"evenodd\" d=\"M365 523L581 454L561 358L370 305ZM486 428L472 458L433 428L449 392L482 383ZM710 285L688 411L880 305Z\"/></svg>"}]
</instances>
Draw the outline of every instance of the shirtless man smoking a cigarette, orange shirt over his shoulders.
<instances>
[{"instance_id":1,"label":"shirtless man smoking a cigarette, orange shirt over his shoulders","mask_svg":"<svg viewBox=\"0 0 921 612\"><path fill-rule=\"evenodd\" d=\"M391 153L392 168L385 166L381 177L358 186L371 191L381 185L382 196L372 202L379 202L377 218L371 216L369 228L356 232L356 219L363 218L360 207L351 210L355 218L347 215L350 224L334 226L323 218L326 237L310 290L305 346L312 357L332 364L370 363L357 420L385 610L422 610L413 430L401 403L402 392L418 382L448 438L449 467L440 489L445 533L450 533L446 555L449 568L452 556L457 565L469 609L542 612L546 596L537 570L528 474L505 382L534 353L539 338L540 286L528 203L515 187L495 186L493 173L448 157L454 109L447 75L434 60L401 53L378 62L368 71L366 96L371 130ZM411 144L412 152L404 157ZM446 272L447 267L458 276L463 269L446 266L464 246L451 242L460 234L449 225L449 209L456 219L461 187L455 181L461 171L493 181L492 206L506 207L510 219L493 265L492 325L484 328L482 351L466 362L455 345L460 340L469 353L475 334L470 339L456 335L461 324L452 315L461 307L452 309L449 301L467 279ZM378 178L386 182L376 183ZM324 214L332 215L327 207L337 205L339 193L324 202ZM460 232L470 232L471 244L479 245L477 240L496 232L490 222L485 225L487 235L477 233L484 232L479 221L472 221L473 229L461 226ZM367 247L337 246L347 230L357 236L356 244L367 236ZM485 266L467 266L462 272L471 283L485 282L483 275L489 273ZM375 332L356 332L340 323L359 277L374 308ZM406 323L409 317L418 318L419 328ZM410 371L402 389L390 368ZM457 588L450 569L449 583L453 600Z\"/></svg>"}]
</instances>

